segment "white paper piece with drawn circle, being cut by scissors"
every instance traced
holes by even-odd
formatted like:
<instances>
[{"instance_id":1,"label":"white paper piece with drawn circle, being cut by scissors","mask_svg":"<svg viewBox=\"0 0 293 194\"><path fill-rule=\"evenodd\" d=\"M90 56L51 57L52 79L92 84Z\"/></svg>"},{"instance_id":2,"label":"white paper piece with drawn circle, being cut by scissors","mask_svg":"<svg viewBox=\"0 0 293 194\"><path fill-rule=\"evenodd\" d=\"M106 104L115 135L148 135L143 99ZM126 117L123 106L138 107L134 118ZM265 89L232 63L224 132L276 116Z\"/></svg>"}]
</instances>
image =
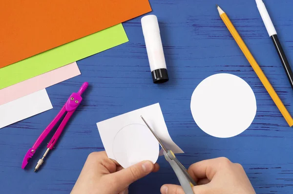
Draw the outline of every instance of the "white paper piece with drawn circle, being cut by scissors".
<instances>
[{"instance_id":1,"label":"white paper piece with drawn circle, being cut by scissors","mask_svg":"<svg viewBox=\"0 0 293 194\"><path fill-rule=\"evenodd\" d=\"M171 139L160 104L153 104L97 123L105 151L127 168L142 160L156 162L159 144L140 116L144 116L161 141L175 154L184 153Z\"/></svg>"}]
</instances>

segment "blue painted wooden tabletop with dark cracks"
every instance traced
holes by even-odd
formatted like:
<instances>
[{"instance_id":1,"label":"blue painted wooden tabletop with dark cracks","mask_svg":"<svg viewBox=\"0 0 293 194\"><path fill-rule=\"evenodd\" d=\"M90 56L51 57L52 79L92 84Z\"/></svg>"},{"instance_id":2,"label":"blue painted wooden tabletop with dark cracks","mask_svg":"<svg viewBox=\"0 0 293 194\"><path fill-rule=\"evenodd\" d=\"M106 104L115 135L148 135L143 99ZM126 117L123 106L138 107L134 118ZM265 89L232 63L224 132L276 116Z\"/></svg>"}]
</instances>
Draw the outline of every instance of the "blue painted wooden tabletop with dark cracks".
<instances>
[{"instance_id":1,"label":"blue painted wooden tabletop with dark cracks","mask_svg":"<svg viewBox=\"0 0 293 194\"><path fill-rule=\"evenodd\" d=\"M293 1L266 0L279 38L293 63ZM96 122L159 102L170 136L185 151L185 165L226 156L241 163L258 194L293 190L293 129L281 116L220 19L218 3L230 16L273 87L293 114L293 91L254 0L150 0L157 15L167 61L169 82L152 83L140 19L124 23L129 42L78 61L81 76L47 88L54 109L0 130L1 194L67 194L73 188L87 155L104 150ZM93 24L94 25L94 24ZM98 42L97 42L98 44ZM232 138L205 134L190 112L194 88L210 75L230 73L246 80L257 100L251 127ZM90 83L84 101L68 123L60 142L33 172L43 149L21 162L67 97L84 81ZM211 121L212 122L212 121ZM164 158L160 172L130 186L130 194L159 194L161 185L178 184Z\"/></svg>"}]
</instances>

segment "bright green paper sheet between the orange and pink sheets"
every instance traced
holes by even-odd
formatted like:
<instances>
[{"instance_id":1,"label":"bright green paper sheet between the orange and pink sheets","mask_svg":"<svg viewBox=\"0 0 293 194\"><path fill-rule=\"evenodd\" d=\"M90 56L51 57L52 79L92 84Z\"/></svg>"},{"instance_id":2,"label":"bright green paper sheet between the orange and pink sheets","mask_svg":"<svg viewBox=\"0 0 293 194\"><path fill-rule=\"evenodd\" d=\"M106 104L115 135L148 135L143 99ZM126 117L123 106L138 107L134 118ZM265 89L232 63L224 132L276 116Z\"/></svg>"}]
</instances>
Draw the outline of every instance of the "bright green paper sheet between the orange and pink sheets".
<instances>
[{"instance_id":1,"label":"bright green paper sheet between the orange and pink sheets","mask_svg":"<svg viewBox=\"0 0 293 194\"><path fill-rule=\"evenodd\" d=\"M100 53L127 41L128 38L122 24L118 24L26 58L0 69L0 89Z\"/></svg>"}]
</instances>

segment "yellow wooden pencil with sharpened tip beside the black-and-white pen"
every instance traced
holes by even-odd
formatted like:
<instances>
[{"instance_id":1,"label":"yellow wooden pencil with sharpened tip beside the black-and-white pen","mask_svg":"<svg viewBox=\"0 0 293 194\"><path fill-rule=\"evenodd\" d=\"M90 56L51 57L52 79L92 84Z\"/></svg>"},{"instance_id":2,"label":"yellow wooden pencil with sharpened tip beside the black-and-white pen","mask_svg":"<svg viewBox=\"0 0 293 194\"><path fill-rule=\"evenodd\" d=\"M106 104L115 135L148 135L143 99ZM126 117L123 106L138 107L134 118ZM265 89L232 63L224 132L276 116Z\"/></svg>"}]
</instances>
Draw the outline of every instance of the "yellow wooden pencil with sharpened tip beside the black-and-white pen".
<instances>
[{"instance_id":1,"label":"yellow wooden pencil with sharpened tip beside the black-and-white pen","mask_svg":"<svg viewBox=\"0 0 293 194\"><path fill-rule=\"evenodd\" d=\"M231 23L231 21L228 18L227 14L218 5L217 5L217 8L218 8L220 17L222 18L222 20L224 21L225 25L229 29L231 35L233 36L233 38L237 42L237 44L240 47L240 49L242 50L243 54L245 55L245 57L247 58L247 60L251 64L251 67L253 68L254 72L256 73L256 75L258 76L258 78L260 79L262 84L265 86L266 90L268 91L268 93L272 97L272 100L277 105L278 109L280 110L280 112L282 113L284 118L286 119L287 123L290 125L290 127L292 127L293 126L293 118L292 118L292 116L289 114L289 112L286 109L286 107L284 106L283 102L278 97L277 93L274 91L274 89L273 89L271 83L269 82L268 78L265 76L264 72L261 70L261 68L259 67L259 65L255 61L255 59L251 55L251 52L249 51L249 49L245 45L244 41L241 39L240 35L238 34L238 32L236 31L235 27Z\"/></svg>"}]
</instances>

